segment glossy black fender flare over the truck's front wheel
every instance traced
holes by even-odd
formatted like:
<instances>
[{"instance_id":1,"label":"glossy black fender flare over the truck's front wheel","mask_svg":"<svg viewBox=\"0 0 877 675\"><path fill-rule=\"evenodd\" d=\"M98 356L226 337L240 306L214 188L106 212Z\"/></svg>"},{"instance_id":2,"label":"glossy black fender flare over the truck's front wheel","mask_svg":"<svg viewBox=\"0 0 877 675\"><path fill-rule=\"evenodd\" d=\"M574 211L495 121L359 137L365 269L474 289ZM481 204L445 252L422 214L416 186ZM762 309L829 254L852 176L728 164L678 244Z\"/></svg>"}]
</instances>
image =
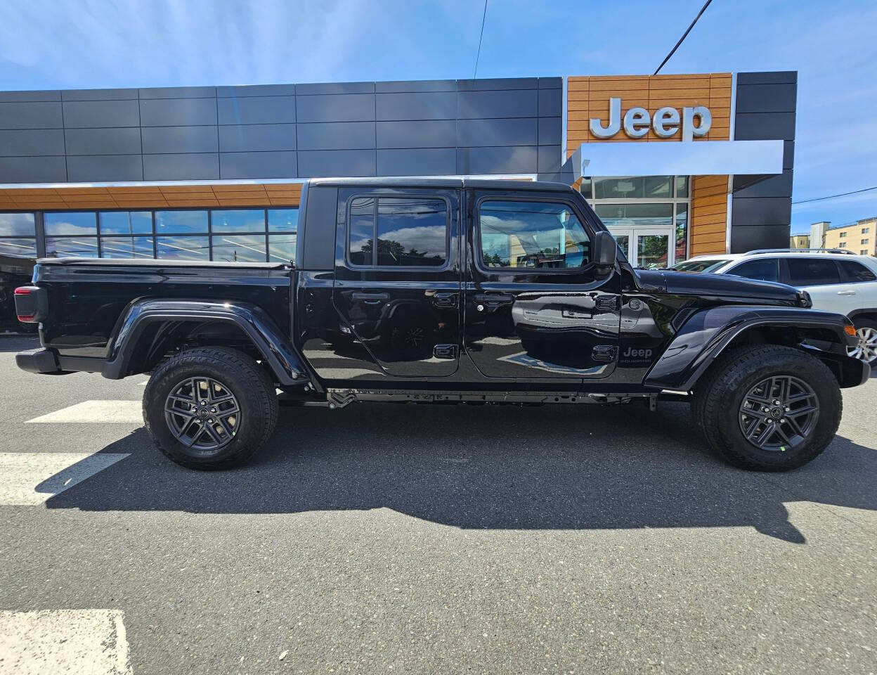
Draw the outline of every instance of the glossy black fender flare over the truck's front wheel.
<instances>
[{"instance_id":1,"label":"glossy black fender flare over the truck's front wheel","mask_svg":"<svg viewBox=\"0 0 877 675\"><path fill-rule=\"evenodd\" d=\"M849 320L843 314L799 307L723 305L704 309L695 312L683 324L658 361L645 374L643 384L673 391L691 391L698 378L731 341L755 327L828 329L837 335L838 347L845 348L855 344L855 338L844 332L847 325ZM845 351L834 354L813 350L813 353L817 356L831 355L831 361L839 359L862 363L846 356Z\"/></svg>"}]
</instances>

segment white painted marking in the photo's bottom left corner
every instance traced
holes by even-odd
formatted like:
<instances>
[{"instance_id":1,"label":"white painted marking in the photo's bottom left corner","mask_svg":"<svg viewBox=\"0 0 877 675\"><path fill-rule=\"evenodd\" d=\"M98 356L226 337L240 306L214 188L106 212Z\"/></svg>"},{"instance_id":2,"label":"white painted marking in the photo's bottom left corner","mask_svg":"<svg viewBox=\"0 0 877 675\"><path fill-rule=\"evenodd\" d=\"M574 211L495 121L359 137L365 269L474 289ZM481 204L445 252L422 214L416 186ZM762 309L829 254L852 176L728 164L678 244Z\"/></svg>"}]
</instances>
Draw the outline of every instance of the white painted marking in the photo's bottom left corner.
<instances>
[{"instance_id":1,"label":"white painted marking in the photo's bottom left corner","mask_svg":"<svg viewBox=\"0 0 877 675\"><path fill-rule=\"evenodd\" d=\"M131 675L118 609L0 612L0 675Z\"/></svg>"}]
</instances>

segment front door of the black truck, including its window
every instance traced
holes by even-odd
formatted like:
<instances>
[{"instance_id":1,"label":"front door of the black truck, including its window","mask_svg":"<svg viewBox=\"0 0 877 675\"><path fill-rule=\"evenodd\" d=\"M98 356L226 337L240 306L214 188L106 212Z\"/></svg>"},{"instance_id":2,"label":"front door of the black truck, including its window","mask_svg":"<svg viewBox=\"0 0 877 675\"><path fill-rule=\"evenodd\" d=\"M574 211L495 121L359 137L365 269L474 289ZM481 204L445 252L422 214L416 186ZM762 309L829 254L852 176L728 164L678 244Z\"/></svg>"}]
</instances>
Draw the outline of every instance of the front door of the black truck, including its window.
<instances>
[{"instance_id":1,"label":"front door of the black truck, including its window","mask_svg":"<svg viewBox=\"0 0 877 675\"><path fill-rule=\"evenodd\" d=\"M594 229L552 192L467 195L465 346L486 377L606 377L615 369L620 278L595 269Z\"/></svg>"}]
</instances>

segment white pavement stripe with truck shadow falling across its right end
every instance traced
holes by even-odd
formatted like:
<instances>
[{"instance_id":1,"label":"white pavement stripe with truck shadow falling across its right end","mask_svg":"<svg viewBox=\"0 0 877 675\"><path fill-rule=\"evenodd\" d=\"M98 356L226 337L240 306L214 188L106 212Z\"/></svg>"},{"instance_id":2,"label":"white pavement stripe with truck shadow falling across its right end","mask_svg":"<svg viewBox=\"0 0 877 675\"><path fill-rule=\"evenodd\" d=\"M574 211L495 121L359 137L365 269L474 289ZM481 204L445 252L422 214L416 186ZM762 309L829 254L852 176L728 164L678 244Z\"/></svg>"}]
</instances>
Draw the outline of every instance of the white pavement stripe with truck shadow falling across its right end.
<instances>
[{"instance_id":1,"label":"white pavement stripe with truck shadow falling across its right end","mask_svg":"<svg viewBox=\"0 0 877 675\"><path fill-rule=\"evenodd\" d=\"M126 453L0 452L0 476L3 477L0 506L38 506L127 456Z\"/></svg>"}]
</instances>

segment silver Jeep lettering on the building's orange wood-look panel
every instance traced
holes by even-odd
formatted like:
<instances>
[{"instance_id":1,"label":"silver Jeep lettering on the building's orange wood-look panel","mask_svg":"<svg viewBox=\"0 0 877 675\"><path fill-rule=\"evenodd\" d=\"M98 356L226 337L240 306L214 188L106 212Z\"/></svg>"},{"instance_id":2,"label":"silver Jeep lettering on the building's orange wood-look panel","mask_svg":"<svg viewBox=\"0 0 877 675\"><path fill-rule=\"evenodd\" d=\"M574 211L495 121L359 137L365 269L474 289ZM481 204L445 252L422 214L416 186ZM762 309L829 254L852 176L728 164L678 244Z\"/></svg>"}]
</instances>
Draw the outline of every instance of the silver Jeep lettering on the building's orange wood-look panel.
<instances>
[{"instance_id":1,"label":"silver Jeep lettering on the building's orange wood-look panel","mask_svg":"<svg viewBox=\"0 0 877 675\"><path fill-rule=\"evenodd\" d=\"M695 125L695 119L697 124ZM695 136L705 136L712 125L712 115L709 108L704 105L696 105L694 108L682 108L681 128L682 140L692 140ZM602 126L600 118L591 118L590 130L598 139L612 138L622 126L621 98L609 99L609 124ZM656 136L668 139L679 133L679 111L670 106L659 108L654 117L649 115L645 108L631 108L624 113L624 133L631 139L639 139L649 133L652 127Z\"/></svg>"}]
</instances>

